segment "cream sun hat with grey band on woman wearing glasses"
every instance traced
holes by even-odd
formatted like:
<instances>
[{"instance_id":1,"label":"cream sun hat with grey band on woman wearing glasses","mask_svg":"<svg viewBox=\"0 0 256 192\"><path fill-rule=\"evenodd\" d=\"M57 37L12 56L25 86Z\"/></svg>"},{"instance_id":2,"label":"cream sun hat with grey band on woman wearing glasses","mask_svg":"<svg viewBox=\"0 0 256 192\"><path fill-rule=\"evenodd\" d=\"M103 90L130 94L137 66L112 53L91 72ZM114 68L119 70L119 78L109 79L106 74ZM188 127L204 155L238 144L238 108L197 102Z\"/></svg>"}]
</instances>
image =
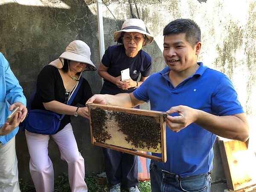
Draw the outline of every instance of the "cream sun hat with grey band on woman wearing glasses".
<instances>
[{"instance_id":1,"label":"cream sun hat with grey band on woman wearing glasses","mask_svg":"<svg viewBox=\"0 0 256 192\"><path fill-rule=\"evenodd\" d=\"M122 24L122 29L120 31L114 32L113 37L116 42L119 42L119 38L121 37L122 32L139 32L141 34L146 35L147 38L149 39L149 42L146 42L145 45L151 44L151 42L154 40L154 37L146 31L145 23L141 19L134 18L125 20L125 22Z\"/></svg>"}]
</instances>

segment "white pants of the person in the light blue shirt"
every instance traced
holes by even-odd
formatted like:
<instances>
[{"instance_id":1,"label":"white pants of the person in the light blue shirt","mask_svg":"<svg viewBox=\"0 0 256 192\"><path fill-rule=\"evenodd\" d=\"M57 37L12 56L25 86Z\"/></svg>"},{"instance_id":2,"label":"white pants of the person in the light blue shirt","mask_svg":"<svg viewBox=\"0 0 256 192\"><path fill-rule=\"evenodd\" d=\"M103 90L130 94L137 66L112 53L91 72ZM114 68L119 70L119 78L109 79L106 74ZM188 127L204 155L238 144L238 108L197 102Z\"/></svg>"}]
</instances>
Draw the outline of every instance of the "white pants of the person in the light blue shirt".
<instances>
[{"instance_id":1,"label":"white pants of the person in the light blue shirt","mask_svg":"<svg viewBox=\"0 0 256 192\"><path fill-rule=\"evenodd\" d=\"M0 142L0 192L20 192L15 137L5 145Z\"/></svg>"}]
</instances>

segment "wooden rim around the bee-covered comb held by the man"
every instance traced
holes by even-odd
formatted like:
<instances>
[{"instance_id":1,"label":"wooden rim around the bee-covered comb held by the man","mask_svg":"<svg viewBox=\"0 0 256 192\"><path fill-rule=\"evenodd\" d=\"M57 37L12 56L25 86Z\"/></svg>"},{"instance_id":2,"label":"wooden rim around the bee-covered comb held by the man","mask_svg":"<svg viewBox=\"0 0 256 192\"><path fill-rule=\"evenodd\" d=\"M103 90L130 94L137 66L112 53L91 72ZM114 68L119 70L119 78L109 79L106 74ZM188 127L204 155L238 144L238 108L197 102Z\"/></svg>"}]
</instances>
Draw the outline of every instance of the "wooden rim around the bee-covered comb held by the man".
<instances>
[{"instance_id":1,"label":"wooden rim around the bee-covered comb held by the man","mask_svg":"<svg viewBox=\"0 0 256 192\"><path fill-rule=\"evenodd\" d=\"M87 105L87 107L89 109L91 143L93 145L101 146L104 148L110 148L110 149L125 152L128 154L138 155L138 156L146 157L146 158L153 159L153 160L162 161L164 163L166 162L166 123L164 121L164 118L168 115L167 113L160 112L160 111L135 109L135 108L121 108L121 107L117 107L117 106L99 105L99 104L89 104L89 105ZM97 142L93 135L93 123L92 122L95 119L93 119L94 116L91 115L91 111L93 111L93 109L96 109L96 108L99 108L99 109L105 110L105 111L115 111L117 113L121 112L121 113L128 113L128 114L140 115L140 116L145 116L145 117L150 116L150 117L154 117L154 118L158 119L160 122L160 134L161 134L160 135L160 137L161 137L160 151L161 151L162 157L157 157L157 156L154 156L151 154L140 153L139 151L135 151L134 148L123 148L123 147L116 146L116 145ZM147 151L147 149L145 149L145 150L143 149L143 151Z\"/></svg>"}]
</instances>

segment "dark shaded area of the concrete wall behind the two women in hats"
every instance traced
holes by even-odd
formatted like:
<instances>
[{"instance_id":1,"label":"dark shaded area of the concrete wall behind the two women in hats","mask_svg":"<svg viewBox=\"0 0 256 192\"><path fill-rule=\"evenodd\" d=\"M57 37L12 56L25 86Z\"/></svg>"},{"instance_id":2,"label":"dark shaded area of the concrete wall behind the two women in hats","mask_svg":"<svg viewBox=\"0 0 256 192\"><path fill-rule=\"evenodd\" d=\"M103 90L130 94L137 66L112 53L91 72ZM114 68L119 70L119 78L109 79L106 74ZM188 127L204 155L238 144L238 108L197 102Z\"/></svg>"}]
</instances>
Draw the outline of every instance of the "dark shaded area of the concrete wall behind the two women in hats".
<instances>
[{"instance_id":1,"label":"dark shaded area of the concrete wall behind the two women in hats","mask_svg":"<svg viewBox=\"0 0 256 192\"><path fill-rule=\"evenodd\" d=\"M0 52L3 52L9 61L27 100L35 89L41 69L58 58L73 40L85 41L91 49L91 60L96 67L99 66L97 16L92 14L84 0L65 0L61 3L66 3L69 9L58 8L59 2L45 6L26 6L17 3L0 5ZM104 18L106 48L115 44L113 32L119 30L122 23L123 20ZM162 52L155 42L145 51L152 56L154 62L152 73L165 66ZM83 76L89 81L93 93L99 93L102 80L98 73L87 71ZM71 120L79 150L85 160L86 173L103 170L102 149L91 144L89 121L80 117ZM19 131L17 134L16 151L19 177L31 181L24 132ZM58 146L52 140L49 140L49 157L54 165L55 177L67 172L67 164L60 159Z\"/></svg>"}]
</instances>

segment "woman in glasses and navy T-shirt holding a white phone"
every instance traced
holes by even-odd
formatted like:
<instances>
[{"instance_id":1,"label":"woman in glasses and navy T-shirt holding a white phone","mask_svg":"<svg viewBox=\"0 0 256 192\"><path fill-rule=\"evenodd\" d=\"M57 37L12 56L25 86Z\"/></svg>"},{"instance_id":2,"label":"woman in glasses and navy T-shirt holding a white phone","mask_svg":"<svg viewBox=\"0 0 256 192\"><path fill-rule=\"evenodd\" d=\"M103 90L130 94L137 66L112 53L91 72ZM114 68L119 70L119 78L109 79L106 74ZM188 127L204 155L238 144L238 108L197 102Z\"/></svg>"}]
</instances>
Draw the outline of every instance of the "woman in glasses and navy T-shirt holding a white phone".
<instances>
[{"instance_id":1,"label":"woman in glasses and navy T-shirt holding a white phone","mask_svg":"<svg viewBox=\"0 0 256 192\"><path fill-rule=\"evenodd\" d=\"M101 94L116 95L131 93L150 75L151 57L142 47L153 41L153 36L146 32L143 20L128 19L122 29L114 32L117 45L108 47L99 64L99 75L104 79ZM121 79L121 71L129 68L128 79ZM139 76L141 75L140 79ZM140 192L138 185L137 156L103 148L105 168L110 192L120 192L121 185L129 192Z\"/></svg>"}]
</instances>

